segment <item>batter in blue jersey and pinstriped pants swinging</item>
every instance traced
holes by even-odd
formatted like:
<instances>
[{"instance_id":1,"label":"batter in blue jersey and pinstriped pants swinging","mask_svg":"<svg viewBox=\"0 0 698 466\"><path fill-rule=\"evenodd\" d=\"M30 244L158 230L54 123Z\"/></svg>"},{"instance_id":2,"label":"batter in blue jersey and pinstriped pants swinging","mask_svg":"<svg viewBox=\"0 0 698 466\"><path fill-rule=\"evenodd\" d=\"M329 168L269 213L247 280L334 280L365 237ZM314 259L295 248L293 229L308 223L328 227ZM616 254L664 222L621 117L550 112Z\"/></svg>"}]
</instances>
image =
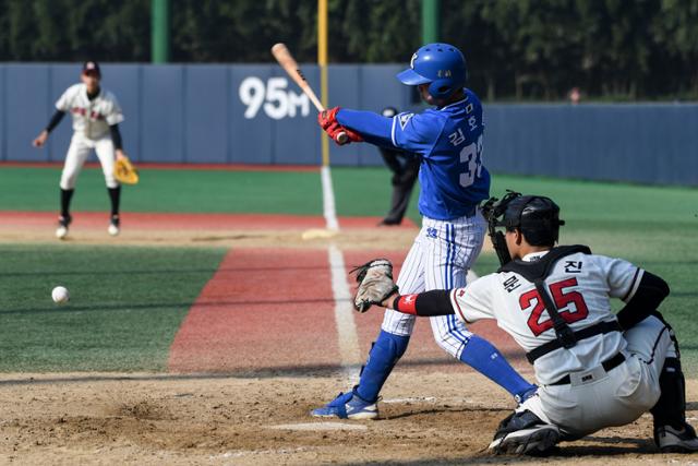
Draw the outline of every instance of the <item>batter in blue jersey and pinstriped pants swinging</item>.
<instances>
[{"instance_id":1,"label":"batter in blue jersey and pinstriped pants swinging","mask_svg":"<svg viewBox=\"0 0 698 466\"><path fill-rule=\"evenodd\" d=\"M435 106L421 113L386 118L370 111L338 107L318 115L333 140L345 131L349 141L416 154L420 159L419 210L422 229L405 260L398 285L405 292L450 289L466 285L466 275L482 249L486 223L479 203L489 198L490 174L482 164L482 107L465 88L466 60L456 47L429 44L412 56L410 68L398 74L418 86ZM521 401L535 386L524 380L489 342L472 334L454 315L431 320L436 343ZM381 387L400 359L412 334L414 316L386 310L359 384L326 406L318 417L372 419L378 416Z\"/></svg>"}]
</instances>

